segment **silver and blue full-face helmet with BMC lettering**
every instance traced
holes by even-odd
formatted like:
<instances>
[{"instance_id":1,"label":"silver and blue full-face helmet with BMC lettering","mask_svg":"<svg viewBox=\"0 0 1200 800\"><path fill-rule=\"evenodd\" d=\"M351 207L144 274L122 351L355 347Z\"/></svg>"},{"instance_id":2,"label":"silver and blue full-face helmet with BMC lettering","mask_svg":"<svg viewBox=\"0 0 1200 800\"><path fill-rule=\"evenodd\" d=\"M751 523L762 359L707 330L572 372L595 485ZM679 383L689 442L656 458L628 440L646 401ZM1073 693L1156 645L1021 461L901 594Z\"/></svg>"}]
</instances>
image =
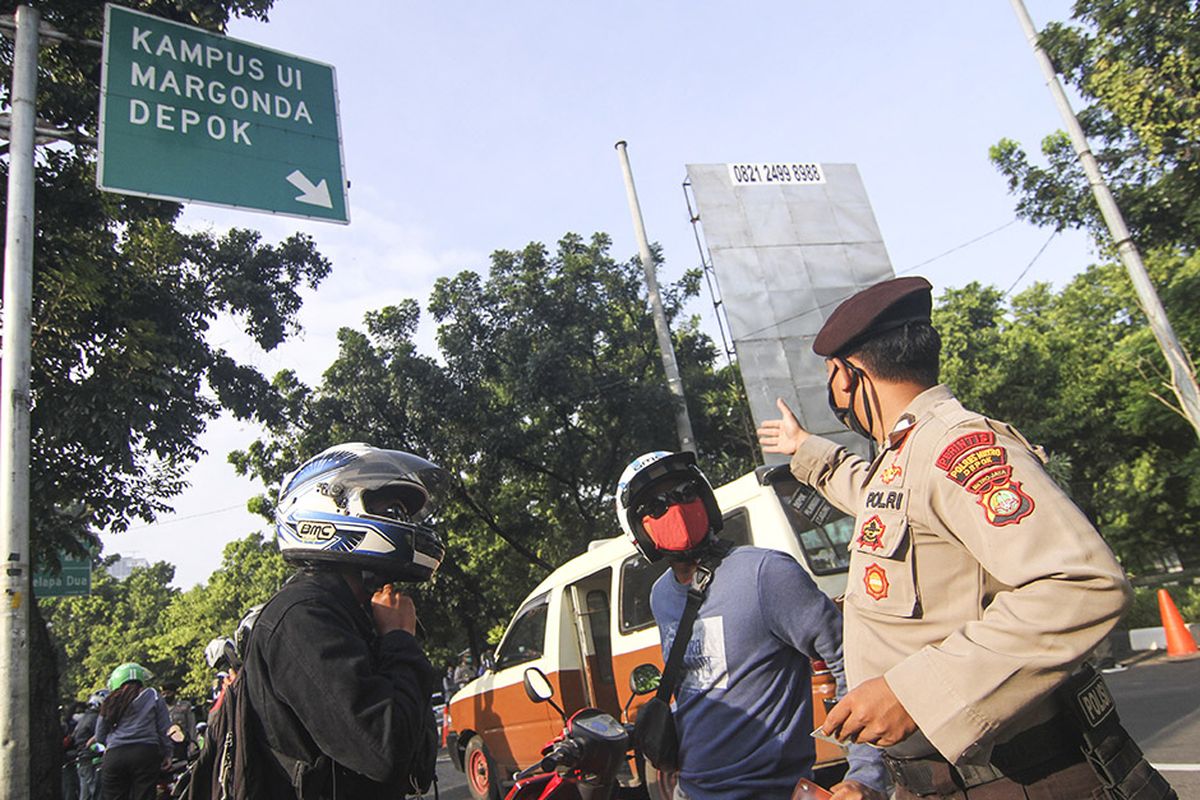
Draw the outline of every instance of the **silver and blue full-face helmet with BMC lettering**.
<instances>
[{"instance_id":1,"label":"silver and blue full-face helmet with BMC lettering","mask_svg":"<svg viewBox=\"0 0 1200 800\"><path fill-rule=\"evenodd\" d=\"M385 581L427 581L445 547L425 519L445 471L420 456L335 445L283 480L275 510L284 560L355 566Z\"/></svg>"}]
</instances>

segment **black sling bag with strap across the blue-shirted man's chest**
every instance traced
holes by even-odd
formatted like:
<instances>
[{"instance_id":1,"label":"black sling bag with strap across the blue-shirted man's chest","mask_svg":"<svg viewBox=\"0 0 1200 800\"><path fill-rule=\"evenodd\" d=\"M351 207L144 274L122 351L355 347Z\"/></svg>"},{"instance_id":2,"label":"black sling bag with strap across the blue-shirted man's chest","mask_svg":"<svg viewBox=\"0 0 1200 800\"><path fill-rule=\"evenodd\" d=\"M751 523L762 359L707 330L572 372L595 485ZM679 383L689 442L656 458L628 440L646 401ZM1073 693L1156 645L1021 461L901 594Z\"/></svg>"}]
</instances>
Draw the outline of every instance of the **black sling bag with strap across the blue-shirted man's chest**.
<instances>
[{"instance_id":1,"label":"black sling bag with strap across the blue-shirted man's chest","mask_svg":"<svg viewBox=\"0 0 1200 800\"><path fill-rule=\"evenodd\" d=\"M676 732L674 714L671 711L671 697L679 688L683 678L683 656L691 640L691 630L696 624L700 604L704 602L708 585L720 559L706 560L696 569L696 576L688 589L688 602L676 628L671 654L667 656L666 669L659 684L659 691L637 710L634 721L634 741L637 748L656 768L665 772L679 769L679 734Z\"/></svg>"}]
</instances>

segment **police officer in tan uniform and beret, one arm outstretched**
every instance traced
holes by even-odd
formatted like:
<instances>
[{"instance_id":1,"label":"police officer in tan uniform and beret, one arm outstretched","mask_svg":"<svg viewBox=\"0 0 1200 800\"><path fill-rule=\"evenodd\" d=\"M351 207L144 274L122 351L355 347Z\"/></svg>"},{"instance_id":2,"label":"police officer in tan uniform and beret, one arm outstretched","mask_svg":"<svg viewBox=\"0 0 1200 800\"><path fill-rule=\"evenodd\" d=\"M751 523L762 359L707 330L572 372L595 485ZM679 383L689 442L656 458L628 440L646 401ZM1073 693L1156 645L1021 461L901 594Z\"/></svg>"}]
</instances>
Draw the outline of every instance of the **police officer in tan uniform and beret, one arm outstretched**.
<instances>
[{"instance_id":1,"label":"police officer in tan uniform and beret, one arm outstretched","mask_svg":"<svg viewBox=\"0 0 1200 800\"><path fill-rule=\"evenodd\" d=\"M812 343L830 408L874 459L811 435L782 401L758 429L766 452L790 455L798 480L856 518L851 691L824 732L884 747L898 798L1172 796L1123 730L1096 735L1055 692L1120 619L1129 584L1042 451L937 383L931 305L924 278L886 281ZM1098 723L1116 721L1109 710ZM1100 739L1098 774L1085 750Z\"/></svg>"}]
</instances>

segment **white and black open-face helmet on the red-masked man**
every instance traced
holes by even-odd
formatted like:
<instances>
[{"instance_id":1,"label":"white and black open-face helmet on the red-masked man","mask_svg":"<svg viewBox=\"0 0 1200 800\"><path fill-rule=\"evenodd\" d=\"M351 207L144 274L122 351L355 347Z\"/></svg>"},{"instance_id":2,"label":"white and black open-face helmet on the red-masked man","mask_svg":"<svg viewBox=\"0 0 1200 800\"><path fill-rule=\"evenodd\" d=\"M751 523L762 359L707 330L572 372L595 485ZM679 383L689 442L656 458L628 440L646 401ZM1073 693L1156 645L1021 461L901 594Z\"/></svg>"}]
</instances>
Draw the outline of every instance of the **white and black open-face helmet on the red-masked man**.
<instances>
[{"instance_id":1,"label":"white and black open-face helmet on the red-masked man","mask_svg":"<svg viewBox=\"0 0 1200 800\"><path fill-rule=\"evenodd\" d=\"M655 511L652 506L656 505L660 493L676 486L689 487L695 493L694 499L703 501L704 512L708 515L708 530L702 541L688 549L662 551L646 531L642 519ZM716 542L716 534L724 524L716 495L713 494L708 479L696 465L695 453L673 453L665 450L638 456L620 474L617 481L617 519L625 535L649 561L658 561L664 557L682 561L694 560Z\"/></svg>"}]
</instances>

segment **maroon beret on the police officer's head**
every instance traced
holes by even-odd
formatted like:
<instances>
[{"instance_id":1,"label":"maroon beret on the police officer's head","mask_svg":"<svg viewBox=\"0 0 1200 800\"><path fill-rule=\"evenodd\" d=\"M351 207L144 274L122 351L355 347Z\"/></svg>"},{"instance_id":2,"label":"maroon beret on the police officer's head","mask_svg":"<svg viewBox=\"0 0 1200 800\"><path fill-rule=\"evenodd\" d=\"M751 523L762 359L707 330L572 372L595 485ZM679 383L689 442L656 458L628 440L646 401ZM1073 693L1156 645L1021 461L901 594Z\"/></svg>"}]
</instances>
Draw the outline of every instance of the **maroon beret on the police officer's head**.
<instances>
[{"instance_id":1,"label":"maroon beret on the police officer's head","mask_svg":"<svg viewBox=\"0 0 1200 800\"><path fill-rule=\"evenodd\" d=\"M934 287L920 277L892 278L844 300L812 339L812 351L833 359L850 355L868 339L905 323L929 321Z\"/></svg>"}]
</instances>

